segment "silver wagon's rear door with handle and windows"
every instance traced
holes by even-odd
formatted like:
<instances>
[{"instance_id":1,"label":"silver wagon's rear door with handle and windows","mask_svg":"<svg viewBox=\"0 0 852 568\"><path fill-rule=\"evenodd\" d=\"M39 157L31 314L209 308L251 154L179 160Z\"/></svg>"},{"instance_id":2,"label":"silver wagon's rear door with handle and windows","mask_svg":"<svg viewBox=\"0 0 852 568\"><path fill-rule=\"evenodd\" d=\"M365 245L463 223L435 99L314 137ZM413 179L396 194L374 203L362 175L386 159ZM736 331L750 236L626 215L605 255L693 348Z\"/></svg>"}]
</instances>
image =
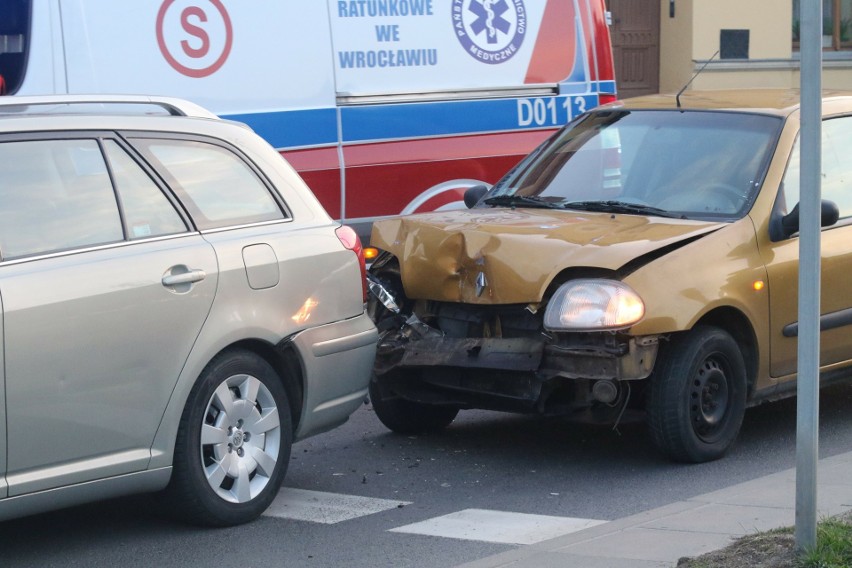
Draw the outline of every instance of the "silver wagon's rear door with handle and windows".
<instances>
[{"instance_id":1,"label":"silver wagon's rear door with handle and windows","mask_svg":"<svg viewBox=\"0 0 852 568\"><path fill-rule=\"evenodd\" d=\"M214 252L117 136L0 138L0 163L8 494L142 470Z\"/></svg>"}]
</instances>

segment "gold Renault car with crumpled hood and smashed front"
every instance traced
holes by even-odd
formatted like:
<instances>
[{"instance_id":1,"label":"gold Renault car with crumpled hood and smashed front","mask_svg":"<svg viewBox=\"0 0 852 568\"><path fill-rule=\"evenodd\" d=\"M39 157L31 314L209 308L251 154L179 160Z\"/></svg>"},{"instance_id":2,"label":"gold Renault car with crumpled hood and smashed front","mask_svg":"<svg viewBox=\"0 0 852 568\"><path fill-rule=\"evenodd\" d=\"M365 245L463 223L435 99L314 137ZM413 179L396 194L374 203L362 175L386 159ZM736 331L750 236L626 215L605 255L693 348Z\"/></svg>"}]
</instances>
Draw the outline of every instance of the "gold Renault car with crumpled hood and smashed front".
<instances>
[{"instance_id":1,"label":"gold Renault car with crumpled hood and smashed front","mask_svg":"<svg viewBox=\"0 0 852 568\"><path fill-rule=\"evenodd\" d=\"M852 363L852 94L822 123L823 381ZM371 400L397 432L460 409L618 423L721 457L795 394L799 94L692 91L579 116L469 209L376 222Z\"/></svg>"}]
</instances>

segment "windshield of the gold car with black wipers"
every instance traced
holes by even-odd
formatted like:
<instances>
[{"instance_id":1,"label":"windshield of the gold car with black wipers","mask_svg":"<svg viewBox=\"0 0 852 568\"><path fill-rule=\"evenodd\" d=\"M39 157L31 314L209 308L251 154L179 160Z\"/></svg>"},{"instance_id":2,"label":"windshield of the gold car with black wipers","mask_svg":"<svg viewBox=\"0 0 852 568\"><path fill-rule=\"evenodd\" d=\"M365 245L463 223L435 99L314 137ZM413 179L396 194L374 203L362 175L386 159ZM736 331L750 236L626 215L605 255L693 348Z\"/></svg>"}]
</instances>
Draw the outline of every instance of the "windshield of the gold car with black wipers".
<instances>
[{"instance_id":1,"label":"windshield of the gold car with black wipers","mask_svg":"<svg viewBox=\"0 0 852 568\"><path fill-rule=\"evenodd\" d=\"M490 206L733 219L760 186L781 119L599 111L557 133L485 196Z\"/></svg>"}]
</instances>

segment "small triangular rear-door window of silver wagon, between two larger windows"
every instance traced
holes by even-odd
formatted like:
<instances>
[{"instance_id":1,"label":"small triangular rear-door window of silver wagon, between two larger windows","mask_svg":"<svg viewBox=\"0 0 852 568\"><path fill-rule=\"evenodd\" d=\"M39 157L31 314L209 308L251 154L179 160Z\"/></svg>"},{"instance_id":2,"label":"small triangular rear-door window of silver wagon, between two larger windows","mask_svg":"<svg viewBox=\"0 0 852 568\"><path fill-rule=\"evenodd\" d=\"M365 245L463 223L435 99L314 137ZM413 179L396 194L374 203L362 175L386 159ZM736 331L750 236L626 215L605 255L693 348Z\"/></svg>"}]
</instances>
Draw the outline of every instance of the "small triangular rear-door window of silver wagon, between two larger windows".
<instances>
[{"instance_id":1,"label":"small triangular rear-door window of silver wagon, between two larger windows","mask_svg":"<svg viewBox=\"0 0 852 568\"><path fill-rule=\"evenodd\" d=\"M114 140L104 142L129 239L182 233L186 224L168 198Z\"/></svg>"}]
</instances>

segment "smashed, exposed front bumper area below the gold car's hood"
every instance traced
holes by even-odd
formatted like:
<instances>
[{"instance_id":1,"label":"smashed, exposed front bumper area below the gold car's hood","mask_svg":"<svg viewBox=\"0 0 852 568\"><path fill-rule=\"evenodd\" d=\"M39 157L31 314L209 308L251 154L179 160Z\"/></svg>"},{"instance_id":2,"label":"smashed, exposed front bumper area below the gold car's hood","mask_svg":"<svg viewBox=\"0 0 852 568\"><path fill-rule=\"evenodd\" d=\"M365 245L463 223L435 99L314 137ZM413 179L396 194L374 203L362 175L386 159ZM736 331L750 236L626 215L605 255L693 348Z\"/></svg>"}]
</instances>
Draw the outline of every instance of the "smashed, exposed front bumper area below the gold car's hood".
<instances>
[{"instance_id":1,"label":"smashed, exposed front bumper area below the gold car's hood","mask_svg":"<svg viewBox=\"0 0 852 568\"><path fill-rule=\"evenodd\" d=\"M400 400L409 411L429 405L615 422L631 391L638 395L631 384L653 369L656 336L567 331L548 321L561 288L536 304L412 300L388 253L368 280L368 312L380 333L371 397L386 424L382 408Z\"/></svg>"}]
</instances>

